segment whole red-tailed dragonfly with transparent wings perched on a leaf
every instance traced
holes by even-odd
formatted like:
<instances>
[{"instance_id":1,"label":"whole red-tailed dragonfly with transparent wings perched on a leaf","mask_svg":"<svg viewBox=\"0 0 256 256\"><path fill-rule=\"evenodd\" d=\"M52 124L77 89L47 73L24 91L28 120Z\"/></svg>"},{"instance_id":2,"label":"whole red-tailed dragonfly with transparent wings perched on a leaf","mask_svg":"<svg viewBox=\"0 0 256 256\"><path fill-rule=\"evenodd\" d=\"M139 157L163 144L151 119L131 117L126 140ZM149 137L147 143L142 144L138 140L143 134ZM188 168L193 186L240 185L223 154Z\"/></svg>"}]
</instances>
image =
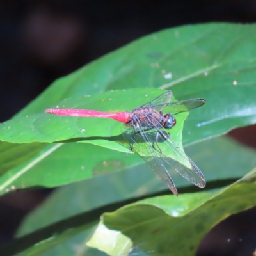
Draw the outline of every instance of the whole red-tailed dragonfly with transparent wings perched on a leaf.
<instances>
[{"instance_id":1,"label":"whole red-tailed dragonfly with transparent wings perched on a leaf","mask_svg":"<svg viewBox=\"0 0 256 256\"><path fill-rule=\"evenodd\" d=\"M170 191L178 196L170 175L173 171L199 188L204 188L206 182L203 173L167 130L176 125L173 115L198 108L205 104L205 100L198 98L171 102L172 95L172 91L168 90L131 112L108 113L86 109L46 109L45 112L63 116L111 118L124 123L122 145L129 148L129 152L138 154L161 177ZM169 113L163 114L164 108L168 108Z\"/></svg>"}]
</instances>

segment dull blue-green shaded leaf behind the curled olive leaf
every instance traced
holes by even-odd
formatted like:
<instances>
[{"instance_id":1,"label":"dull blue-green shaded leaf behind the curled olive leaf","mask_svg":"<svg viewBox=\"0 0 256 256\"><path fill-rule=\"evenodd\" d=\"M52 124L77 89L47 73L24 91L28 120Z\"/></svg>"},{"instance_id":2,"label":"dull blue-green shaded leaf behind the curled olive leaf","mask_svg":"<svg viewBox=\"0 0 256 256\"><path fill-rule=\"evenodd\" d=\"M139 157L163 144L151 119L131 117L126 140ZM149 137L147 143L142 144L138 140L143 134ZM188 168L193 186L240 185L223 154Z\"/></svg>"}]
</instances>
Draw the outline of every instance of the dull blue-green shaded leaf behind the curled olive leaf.
<instances>
[{"instance_id":1,"label":"dull blue-green shaded leaf behind the curled olive leaf","mask_svg":"<svg viewBox=\"0 0 256 256\"><path fill-rule=\"evenodd\" d=\"M196 152L198 148L202 148L202 154ZM241 177L255 166L255 151L250 148L242 147L228 138L216 138L214 140L204 141L198 145L188 147L187 151L189 156L195 158L198 165L204 170L207 180L215 180L217 177L220 179ZM222 159L225 159L225 161ZM205 163L205 161L207 163ZM140 173L138 173L138 170L140 170ZM188 184L186 180L179 179L179 177L176 176L175 183L178 184L178 186L186 186ZM209 185L211 186L211 184ZM208 188L208 186L206 188ZM24 236L29 233L33 234L36 230L47 227L48 225L55 227L55 230L52 230L53 233L58 233L56 224L54 226L54 223L58 223L58 221L65 221L65 219L68 220L72 217L76 220L76 216L79 216L79 214L83 215L83 212L90 212L93 209L97 209L97 207L124 201L128 198L156 193L160 189L164 189L164 185L160 179L158 179L152 171L150 172L147 168L143 168L142 165L139 168L130 168L124 172L111 173L110 175L99 176L91 180L70 184L58 189L44 204L38 207L36 211L29 214L20 227L19 236ZM194 194L191 195L193 196ZM63 200L63 198L65 198L65 200ZM117 206L118 205L120 204L117 204ZM109 208L106 209L110 211ZM106 211L105 208L102 213L104 211ZM97 214L99 214L99 212L97 212ZM90 216L90 214L85 215L79 225L83 225L85 221L92 221L92 218L88 218L88 216ZM68 226L66 228L68 228ZM87 228L84 229L87 230ZM39 237L42 237L44 232L39 231L39 234L41 234ZM75 232L75 234L77 233ZM90 236L90 230L81 233L79 236L75 236L75 234L67 234L67 236L65 236L66 239L71 237L71 240L67 242L62 242L61 239L58 240L59 236L56 235L54 236L54 239L56 239L54 240L54 244L48 243L47 245L48 240L46 239L44 241L44 250L62 242L59 246L52 249L49 255L54 255L54 253L57 252L61 254L63 248L65 248L70 255L74 255L76 248L74 248L72 244L76 241L79 247L83 247L84 241ZM33 245L29 239L31 238L27 237L27 239L24 240L24 244L28 247ZM40 239L38 239L38 241L40 241ZM50 239L50 242L51 241ZM16 244L16 242L14 244ZM11 247L13 246L12 244ZM15 246L17 246L17 244ZM38 247L33 246L31 251L36 250L36 248ZM86 246L83 248L86 248ZM42 248L40 249L39 247L36 252L40 254L40 252L42 252L41 250ZM28 251L26 253L28 253ZM26 253L24 255L26 255ZM35 253L35 255L38 254Z\"/></svg>"}]
</instances>

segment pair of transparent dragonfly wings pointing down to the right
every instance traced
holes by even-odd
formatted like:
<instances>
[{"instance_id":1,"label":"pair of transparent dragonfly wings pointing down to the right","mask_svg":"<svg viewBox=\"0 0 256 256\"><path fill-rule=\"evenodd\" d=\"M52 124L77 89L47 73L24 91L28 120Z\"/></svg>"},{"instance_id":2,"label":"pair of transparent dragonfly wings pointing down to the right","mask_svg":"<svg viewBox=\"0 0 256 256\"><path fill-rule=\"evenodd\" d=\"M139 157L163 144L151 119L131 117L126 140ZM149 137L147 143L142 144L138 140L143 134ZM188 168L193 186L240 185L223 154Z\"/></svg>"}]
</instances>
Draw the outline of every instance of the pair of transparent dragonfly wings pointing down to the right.
<instances>
[{"instance_id":1,"label":"pair of transparent dragonfly wings pointing down to the right","mask_svg":"<svg viewBox=\"0 0 256 256\"><path fill-rule=\"evenodd\" d=\"M148 116L148 127L152 128L150 118L152 118L152 116ZM161 127L161 124L159 124L159 127ZM143 160L161 177L164 183L175 195L178 195L177 189L175 188L169 173L173 170L196 186L200 188L205 187L203 173L176 145L169 134L164 131L164 128L157 129L154 127L149 131L145 131L145 127L141 127L141 125L139 127L134 126L135 133L133 132L133 136L131 132L134 130L129 130L131 131L127 131L129 134L126 136L127 138L129 136L132 137L132 143L134 143L133 151L143 158ZM156 146L157 132L159 134L157 145L159 146L161 152ZM131 147L131 141L129 145ZM168 156L172 156L173 158ZM189 163L190 166L187 167L182 163Z\"/></svg>"}]
</instances>

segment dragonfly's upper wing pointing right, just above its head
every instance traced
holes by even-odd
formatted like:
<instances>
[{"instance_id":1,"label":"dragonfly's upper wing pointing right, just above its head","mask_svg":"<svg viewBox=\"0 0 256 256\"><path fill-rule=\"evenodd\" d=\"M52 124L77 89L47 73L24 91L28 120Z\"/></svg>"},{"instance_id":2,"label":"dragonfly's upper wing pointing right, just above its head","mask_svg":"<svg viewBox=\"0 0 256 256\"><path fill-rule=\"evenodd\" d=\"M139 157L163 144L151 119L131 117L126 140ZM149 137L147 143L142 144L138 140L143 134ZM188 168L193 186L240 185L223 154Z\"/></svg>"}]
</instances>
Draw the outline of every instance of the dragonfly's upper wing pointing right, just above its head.
<instances>
[{"instance_id":1,"label":"dragonfly's upper wing pointing right, just above its head","mask_svg":"<svg viewBox=\"0 0 256 256\"><path fill-rule=\"evenodd\" d=\"M164 111L175 115L177 113L186 112L194 108L199 108L205 104L205 99L198 98L198 99L190 99L190 100L180 100L177 102L172 102L166 104L166 108Z\"/></svg>"}]
</instances>

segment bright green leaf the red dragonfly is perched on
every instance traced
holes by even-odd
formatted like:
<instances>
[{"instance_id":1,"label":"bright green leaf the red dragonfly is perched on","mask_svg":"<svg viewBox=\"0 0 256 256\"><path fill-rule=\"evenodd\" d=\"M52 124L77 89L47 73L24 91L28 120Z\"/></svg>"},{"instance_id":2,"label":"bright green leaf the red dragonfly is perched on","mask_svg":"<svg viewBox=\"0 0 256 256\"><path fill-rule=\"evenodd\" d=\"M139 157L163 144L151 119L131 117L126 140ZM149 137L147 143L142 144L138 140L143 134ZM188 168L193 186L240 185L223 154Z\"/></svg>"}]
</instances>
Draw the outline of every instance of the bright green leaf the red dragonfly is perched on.
<instances>
[{"instance_id":1,"label":"bright green leaf the red dragonfly is perched on","mask_svg":"<svg viewBox=\"0 0 256 256\"><path fill-rule=\"evenodd\" d=\"M60 108L93 109L98 111L131 111L141 104L154 99L163 90L117 90L111 92L96 93L90 97L79 99L67 99L60 102ZM134 100L125 100L131 99ZM173 100L175 100L173 98ZM182 129L182 123L186 114L177 115L177 125L171 130L178 141L181 134L176 135ZM0 125L0 140L12 143L31 142L56 142L68 139L84 141L96 145L102 145L111 149L127 151L113 141L121 141L121 126L115 120L108 118L83 118L76 116L55 116L48 113L38 113L14 118ZM180 143L180 142L179 142Z\"/></svg>"}]
</instances>

